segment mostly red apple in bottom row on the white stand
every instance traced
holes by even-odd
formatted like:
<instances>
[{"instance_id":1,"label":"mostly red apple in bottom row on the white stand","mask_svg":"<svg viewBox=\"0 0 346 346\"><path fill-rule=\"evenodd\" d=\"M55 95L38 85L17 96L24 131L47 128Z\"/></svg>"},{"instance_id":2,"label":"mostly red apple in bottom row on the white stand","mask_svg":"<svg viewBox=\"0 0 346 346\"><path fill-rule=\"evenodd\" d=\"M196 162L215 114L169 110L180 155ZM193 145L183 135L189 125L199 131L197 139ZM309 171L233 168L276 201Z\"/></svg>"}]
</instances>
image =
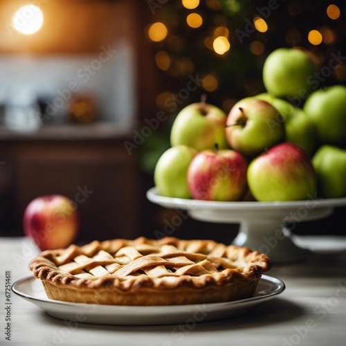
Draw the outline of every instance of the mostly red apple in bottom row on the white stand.
<instances>
[{"instance_id":1,"label":"mostly red apple in bottom row on the white stand","mask_svg":"<svg viewBox=\"0 0 346 346\"><path fill-rule=\"evenodd\" d=\"M231 149L206 149L192 159L188 188L194 199L239 201L247 191L247 163Z\"/></svg>"}]
</instances>

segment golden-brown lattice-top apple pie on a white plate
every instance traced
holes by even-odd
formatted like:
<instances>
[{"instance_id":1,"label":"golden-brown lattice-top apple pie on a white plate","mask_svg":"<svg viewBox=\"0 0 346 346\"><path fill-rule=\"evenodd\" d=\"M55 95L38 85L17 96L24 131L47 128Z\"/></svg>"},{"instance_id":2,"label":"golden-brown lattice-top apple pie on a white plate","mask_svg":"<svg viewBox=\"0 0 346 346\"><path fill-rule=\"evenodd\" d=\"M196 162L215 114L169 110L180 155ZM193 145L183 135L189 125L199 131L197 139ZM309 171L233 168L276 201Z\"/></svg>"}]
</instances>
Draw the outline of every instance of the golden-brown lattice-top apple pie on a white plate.
<instances>
[{"instance_id":1,"label":"golden-brown lattice-top apple pie on a white plate","mask_svg":"<svg viewBox=\"0 0 346 346\"><path fill-rule=\"evenodd\" d=\"M48 298L176 305L250 298L271 264L257 251L174 237L94 241L42 252L29 264Z\"/></svg>"}]
</instances>

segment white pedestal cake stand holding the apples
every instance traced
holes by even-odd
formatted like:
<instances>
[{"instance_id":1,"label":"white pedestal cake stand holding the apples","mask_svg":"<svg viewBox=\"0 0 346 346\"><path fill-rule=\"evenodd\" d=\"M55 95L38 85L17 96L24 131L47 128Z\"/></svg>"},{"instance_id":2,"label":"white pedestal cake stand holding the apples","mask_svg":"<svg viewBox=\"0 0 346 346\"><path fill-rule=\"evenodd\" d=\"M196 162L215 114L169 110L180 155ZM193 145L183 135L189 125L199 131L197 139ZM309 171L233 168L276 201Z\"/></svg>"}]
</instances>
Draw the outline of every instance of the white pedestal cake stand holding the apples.
<instances>
[{"instance_id":1,"label":"white pedestal cake stand holding the apples","mask_svg":"<svg viewBox=\"0 0 346 346\"><path fill-rule=\"evenodd\" d=\"M304 260L310 251L292 241L290 231L295 224L328 217L334 208L346 206L346 198L311 199L286 202L220 202L163 197L156 188L147 192L147 199L170 209L187 210L197 220L240 224L233 244L266 253L276 263Z\"/></svg>"}]
</instances>

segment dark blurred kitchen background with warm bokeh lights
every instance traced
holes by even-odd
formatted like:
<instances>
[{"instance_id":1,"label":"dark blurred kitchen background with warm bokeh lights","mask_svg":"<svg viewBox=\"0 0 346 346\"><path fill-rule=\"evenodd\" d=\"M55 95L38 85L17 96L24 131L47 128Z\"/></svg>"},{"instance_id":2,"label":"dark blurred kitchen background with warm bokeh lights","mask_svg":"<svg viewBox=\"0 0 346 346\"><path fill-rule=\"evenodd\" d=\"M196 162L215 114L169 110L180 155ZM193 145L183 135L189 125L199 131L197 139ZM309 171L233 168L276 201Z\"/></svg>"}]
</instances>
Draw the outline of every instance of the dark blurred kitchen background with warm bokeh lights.
<instances>
[{"instance_id":1,"label":"dark blurred kitchen background with warm bokeh lights","mask_svg":"<svg viewBox=\"0 0 346 346\"><path fill-rule=\"evenodd\" d=\"M340 57L320 82L346 84L345 16L336 0L2 0L1 235L23 235L35 197L64 194L78 203L80 242L157 237L170 224L176 237L231 242L238 225L145 197L174 117L203 94L228 112L263 92L279 47L307 49L320 69ZM294 232L341 234L344 215Z\"/></svg>"}]
</instances>

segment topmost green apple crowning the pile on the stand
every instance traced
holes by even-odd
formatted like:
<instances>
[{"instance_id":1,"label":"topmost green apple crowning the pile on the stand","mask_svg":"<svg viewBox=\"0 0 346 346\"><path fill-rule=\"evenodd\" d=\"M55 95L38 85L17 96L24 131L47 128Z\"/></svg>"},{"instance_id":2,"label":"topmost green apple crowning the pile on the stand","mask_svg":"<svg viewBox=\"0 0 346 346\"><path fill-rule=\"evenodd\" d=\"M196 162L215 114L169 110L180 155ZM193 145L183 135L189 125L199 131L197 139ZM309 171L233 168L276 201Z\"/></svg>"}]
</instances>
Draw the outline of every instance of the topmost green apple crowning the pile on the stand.
<instances>
[{"instance_id":1,"label":"topmost green apple crowning the pile on the stand","mask_svg":"<svg viewBox=\"0 0 346 346\"><path fill-rule=\"evenodd\" d=\"M268 93L276 97L305 99L312 91L316 65L309 53L300 48L278 48L266 57L263 83Z\"/></svg>"}]
</instances>

